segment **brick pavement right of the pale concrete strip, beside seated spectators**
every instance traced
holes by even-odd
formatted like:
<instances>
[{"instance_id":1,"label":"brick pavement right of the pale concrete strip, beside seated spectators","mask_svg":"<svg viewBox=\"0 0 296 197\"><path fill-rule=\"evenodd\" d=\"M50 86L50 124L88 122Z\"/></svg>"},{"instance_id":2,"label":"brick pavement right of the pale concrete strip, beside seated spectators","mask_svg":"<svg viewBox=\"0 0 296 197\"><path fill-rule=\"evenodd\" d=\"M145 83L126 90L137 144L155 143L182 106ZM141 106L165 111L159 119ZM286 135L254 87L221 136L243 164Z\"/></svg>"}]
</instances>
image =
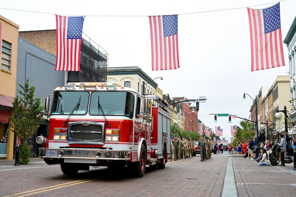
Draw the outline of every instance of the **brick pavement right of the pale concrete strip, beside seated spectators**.
<instances>
[{"instance_id":1,"label":"brick pavement right of the pale concrete strip, beside seated spectators","mask_svg":"<svg viewBox=\"0 0 296 197\"><path fill-rule=\"evenodd\" d=\"M283 196L295 193L296 170L293 170L293 163L260 166L255 160L235 156L232 157L232 165L238 196Z\"/></svg>"}]
</instances>

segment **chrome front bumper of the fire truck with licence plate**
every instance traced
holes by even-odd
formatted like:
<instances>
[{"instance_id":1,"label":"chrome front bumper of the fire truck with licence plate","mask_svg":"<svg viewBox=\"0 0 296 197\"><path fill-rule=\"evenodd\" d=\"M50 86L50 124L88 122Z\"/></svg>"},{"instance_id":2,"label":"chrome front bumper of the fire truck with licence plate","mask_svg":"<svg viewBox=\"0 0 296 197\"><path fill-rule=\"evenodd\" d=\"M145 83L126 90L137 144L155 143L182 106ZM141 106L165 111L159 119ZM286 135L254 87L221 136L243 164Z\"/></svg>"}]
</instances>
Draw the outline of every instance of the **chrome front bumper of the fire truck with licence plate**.
<instances>
[{"instance_id":1,"label":"chrome front bumper of the fire truck with licence plate","mask_svg":"<svg viewBox=\"0 0 296 197\"><path fill-rule=\"evenodd\" d=\"M131 150L86 148L39 148L41 158L130 160Z\"/></svg>"}]
</instances>

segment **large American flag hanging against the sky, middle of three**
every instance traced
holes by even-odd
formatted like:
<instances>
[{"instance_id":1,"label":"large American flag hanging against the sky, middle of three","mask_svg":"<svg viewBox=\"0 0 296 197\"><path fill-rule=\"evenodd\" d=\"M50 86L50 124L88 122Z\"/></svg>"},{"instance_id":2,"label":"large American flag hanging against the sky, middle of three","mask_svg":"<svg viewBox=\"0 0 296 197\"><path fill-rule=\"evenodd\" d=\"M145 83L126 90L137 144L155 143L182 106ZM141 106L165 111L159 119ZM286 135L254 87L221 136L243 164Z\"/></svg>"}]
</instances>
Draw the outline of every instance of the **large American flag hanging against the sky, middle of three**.
<instances>
[{"instance_id":1,"label":"large American flag hanging against the sky, middle of three","mask_svg":"<svg viewBox=\"0 0 296 197\"><path fill-rule=\"evenodd\" d=\"M149 16L152 70L178 69L178 15Z\"/></svg>"}]
</instances>

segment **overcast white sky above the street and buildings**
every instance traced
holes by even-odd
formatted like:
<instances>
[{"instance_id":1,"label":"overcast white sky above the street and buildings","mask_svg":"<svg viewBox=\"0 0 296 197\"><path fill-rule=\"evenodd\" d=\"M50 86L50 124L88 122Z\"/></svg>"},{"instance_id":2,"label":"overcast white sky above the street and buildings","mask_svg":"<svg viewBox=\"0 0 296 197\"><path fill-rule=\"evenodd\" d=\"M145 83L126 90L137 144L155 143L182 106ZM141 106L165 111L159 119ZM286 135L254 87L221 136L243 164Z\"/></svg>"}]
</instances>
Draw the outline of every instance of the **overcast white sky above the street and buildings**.
<instances>
[{"instance_id":1,"label":"overcast white sky above the street and buildings","mask_svg":"<svg viewBox=\"0 0 296 197\"><path fill-rule=\"evenodd\" d=\"M232 123L228 123L228 117L218 117L214 122L214 115L209 114L229 113L248 118L253 100L249 97L243 100L243 93L254 99L262 86L271 87L276 76L288 75L285 44L285 66L251 72L247 7L261 9L276 3L272 0L10 0L1 2L0 8L6 9L0 9L0 15L20 25L19 31L55 29L54 14L86 15L83 33L109 53L109 67L138 66L152 79L163 77L164 80L156 79L156 82L170 97L198 99L205 96L206 103L199 106L199 119L213 130L215 126L221 126L222 137L230 141L230 126L238 125L241 119L232 119ZM260 4L266 5L257 6ZM295 7L295 0L280 3L282 40L296 16ZM212 10L223 11L205 12ZM204 13L186 14L194 12ZM147 16L174 14L179 15L180 68L152 71Z\"/></svg>"}]
</instances>

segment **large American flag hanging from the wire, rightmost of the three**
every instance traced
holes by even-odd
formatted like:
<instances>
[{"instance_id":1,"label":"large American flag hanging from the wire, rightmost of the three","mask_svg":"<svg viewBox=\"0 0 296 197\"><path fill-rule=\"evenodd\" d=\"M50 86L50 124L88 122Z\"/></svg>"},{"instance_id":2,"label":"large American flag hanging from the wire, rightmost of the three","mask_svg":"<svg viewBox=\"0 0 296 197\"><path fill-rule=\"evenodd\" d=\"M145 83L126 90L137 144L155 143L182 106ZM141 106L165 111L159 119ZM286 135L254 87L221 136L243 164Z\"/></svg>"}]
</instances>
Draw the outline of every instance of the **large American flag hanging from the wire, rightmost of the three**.
<instances>
[{"instance_id":1,"label":"large American flag hanging from the wire, rightmost of the three","mask_svg":"<svg viewBox=\"0 0 296 197\"><path fill-rule=\"evenodd\" d=\"M264 9L248 8L251 33L251 71L285 65L279 3Z\"/></svg>"}]
</instances>

